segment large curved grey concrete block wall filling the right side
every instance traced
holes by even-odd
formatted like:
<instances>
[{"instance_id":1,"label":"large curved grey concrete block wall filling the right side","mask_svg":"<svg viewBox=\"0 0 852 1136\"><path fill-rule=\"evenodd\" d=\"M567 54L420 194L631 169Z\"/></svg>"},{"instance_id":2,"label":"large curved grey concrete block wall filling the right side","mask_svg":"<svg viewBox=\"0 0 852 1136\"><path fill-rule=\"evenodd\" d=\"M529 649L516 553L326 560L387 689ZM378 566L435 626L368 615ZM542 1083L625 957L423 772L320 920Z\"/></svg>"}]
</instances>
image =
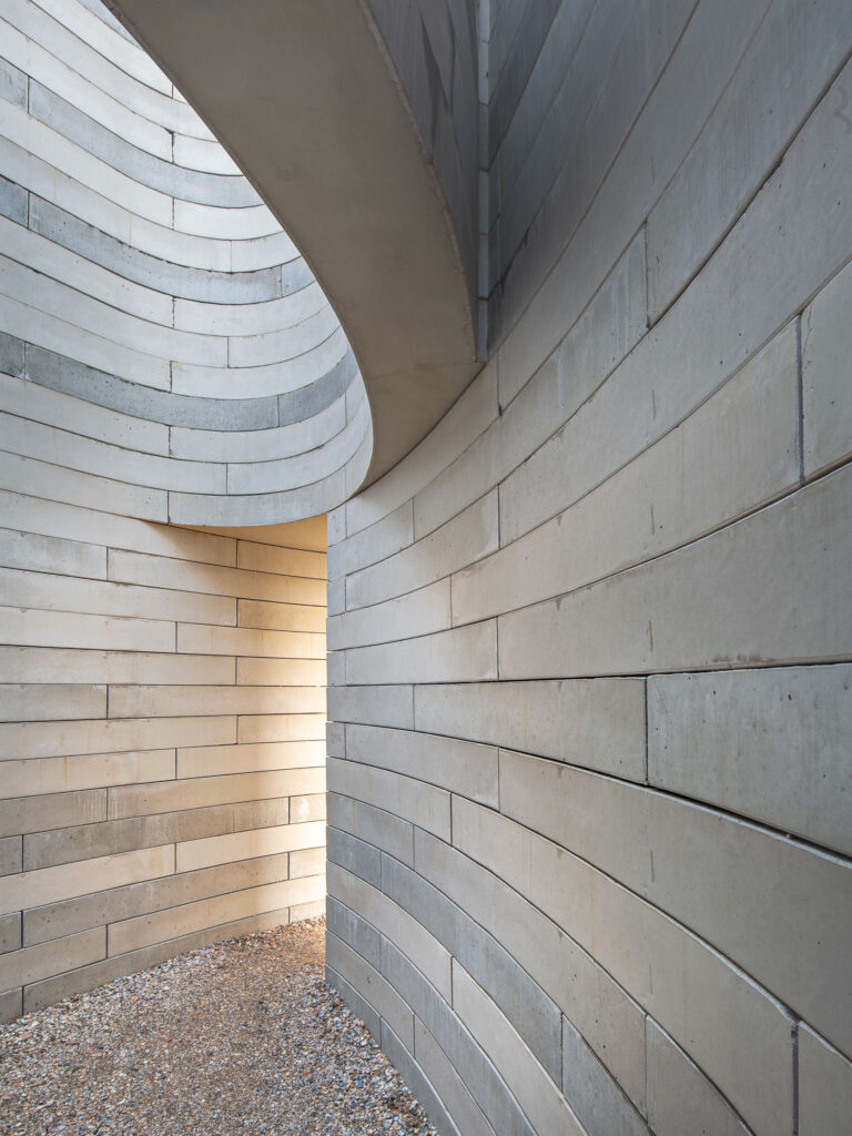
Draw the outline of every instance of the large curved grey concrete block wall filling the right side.
<instances>
[{"instance_id":1,"label":"large curved grey concrete block wall filling the right side","mask_svg":"<svg viewBox=\"0 0 852 1136\"><path fill-rule=\"evenodd\" d=\"M329 516L329 980L448 1134L840 1134L852 9L491 7L499 349Z\"/></svg>"}]
</instances>

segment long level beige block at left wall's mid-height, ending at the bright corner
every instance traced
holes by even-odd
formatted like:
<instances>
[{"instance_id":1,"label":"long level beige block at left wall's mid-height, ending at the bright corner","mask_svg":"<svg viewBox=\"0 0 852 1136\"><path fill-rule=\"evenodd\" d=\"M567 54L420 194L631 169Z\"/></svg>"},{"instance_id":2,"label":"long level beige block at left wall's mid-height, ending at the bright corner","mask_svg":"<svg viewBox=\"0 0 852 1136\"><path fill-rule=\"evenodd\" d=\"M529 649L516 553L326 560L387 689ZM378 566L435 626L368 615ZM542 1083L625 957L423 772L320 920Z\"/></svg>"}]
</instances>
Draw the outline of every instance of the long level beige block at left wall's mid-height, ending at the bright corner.
<instances>
[{"instance_id":1,"label":"long level beige block at left wall's mid-height, ending at the bright corner","mask_svg":"<svg viewBox=\"0 0 852 1136\"><path fill-rule=\"evenodd\" d=\"M191 676L187 676L191 677ZM118 686L110 691L110 718L169 718L222 713L320 713L321 686Z\"/></svg>"}]
</instances>

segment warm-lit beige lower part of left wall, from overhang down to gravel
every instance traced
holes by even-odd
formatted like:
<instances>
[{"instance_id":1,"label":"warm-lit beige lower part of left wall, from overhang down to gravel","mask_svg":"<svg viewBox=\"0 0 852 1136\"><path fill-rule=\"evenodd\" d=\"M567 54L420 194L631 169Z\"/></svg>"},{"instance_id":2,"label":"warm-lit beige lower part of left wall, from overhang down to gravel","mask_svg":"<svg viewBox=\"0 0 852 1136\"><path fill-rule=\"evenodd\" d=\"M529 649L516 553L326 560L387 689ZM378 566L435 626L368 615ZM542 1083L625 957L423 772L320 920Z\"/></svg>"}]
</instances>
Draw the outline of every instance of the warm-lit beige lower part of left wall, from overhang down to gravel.
<instances>
[{"instance_id":1,"label":"warm-lit beige lower part of left wall, from overhang down to gravel","mask_svg":"<svg viewBox=\"0 0 852 1136\"><path fill-rule=\"evenodd\" d=\"M325 519L1 496L0 1020L321 912Z\"/></svg>"}]
</instances>

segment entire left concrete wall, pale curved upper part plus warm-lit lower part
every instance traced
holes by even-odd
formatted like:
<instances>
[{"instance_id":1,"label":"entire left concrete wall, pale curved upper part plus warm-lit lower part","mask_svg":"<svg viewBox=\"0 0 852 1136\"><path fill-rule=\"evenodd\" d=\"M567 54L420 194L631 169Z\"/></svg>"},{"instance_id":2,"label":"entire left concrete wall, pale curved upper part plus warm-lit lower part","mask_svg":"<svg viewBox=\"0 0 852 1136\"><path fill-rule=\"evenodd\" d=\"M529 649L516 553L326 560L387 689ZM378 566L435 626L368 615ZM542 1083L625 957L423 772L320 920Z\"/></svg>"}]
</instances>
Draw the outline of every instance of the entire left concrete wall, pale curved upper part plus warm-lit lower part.
<instances>
[{"instance_id":1,"label":"entire left concrete wall, pale curved upper part plus warm-lit lower part","mask_svg":"<svg viewBox=\"0 0 852 1136\"><path fill-rule=\"evenodd\" d=\"M7 1019L323 910L325 518L159 521L337 502L369 418L307 266L111 17L0 15Z\"/></svg>"}]
</instances>

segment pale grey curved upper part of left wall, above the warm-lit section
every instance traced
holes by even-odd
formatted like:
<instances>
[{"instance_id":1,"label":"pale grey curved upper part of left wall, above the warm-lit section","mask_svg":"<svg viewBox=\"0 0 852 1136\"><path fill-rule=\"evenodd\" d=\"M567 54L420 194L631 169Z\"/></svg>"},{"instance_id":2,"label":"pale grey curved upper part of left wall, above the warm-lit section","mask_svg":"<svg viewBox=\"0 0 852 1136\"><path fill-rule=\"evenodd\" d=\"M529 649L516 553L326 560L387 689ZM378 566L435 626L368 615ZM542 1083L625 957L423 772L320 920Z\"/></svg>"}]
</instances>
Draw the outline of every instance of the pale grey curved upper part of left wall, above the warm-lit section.
<instances>
[{"instance_id":1,"label":"pale grey curved upper part of left wall, above the warm-lit section","mask_svg":"<svg viewBox=\"0 0 852 1136\"><path fill-rule=\"evenodd\" d=\"M252 186L105 17L14 0L0 19L5 483L55 477L64 500L179 524L323 512L371 452L345 335Z\"/></svg>"}]
</instances>

